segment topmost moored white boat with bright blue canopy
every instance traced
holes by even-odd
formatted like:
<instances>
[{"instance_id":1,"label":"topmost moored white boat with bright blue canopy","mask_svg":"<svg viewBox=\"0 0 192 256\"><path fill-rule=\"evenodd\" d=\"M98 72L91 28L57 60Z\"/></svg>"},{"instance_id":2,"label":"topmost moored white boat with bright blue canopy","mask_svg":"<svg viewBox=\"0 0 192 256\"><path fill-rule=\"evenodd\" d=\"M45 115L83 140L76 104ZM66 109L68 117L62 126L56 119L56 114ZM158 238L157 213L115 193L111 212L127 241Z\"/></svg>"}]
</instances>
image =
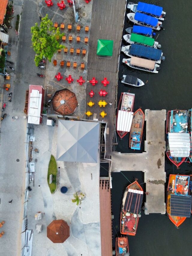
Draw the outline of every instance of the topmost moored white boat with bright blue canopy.
<instances>
[{"instance_id":1,"label":"topmost moored white boat with bright blue canopy","mask_svg":"<svg viewBox=\"0 0 192 256\"><path fill-rule=\"evenodd\" d=\"M149 16L155 17L158 20L165 20L166 12L163 11L163 7L160 7L158 5L152 5L143 2L138 2L138 4L128 2L127 8L134 13L141 12L144 14L148 14Z\"/></svg>"}]
</instances>

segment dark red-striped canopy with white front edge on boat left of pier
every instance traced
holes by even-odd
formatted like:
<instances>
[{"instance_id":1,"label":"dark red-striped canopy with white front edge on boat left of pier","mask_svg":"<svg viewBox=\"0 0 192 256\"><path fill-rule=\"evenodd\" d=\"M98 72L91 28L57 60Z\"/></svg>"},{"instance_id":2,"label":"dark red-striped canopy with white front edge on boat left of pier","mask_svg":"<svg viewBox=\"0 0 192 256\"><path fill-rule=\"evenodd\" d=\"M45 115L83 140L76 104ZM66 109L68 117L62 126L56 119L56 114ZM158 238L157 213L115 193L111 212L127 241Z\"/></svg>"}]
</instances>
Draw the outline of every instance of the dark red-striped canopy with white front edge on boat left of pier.
<instances>
[{"instance_id":1,"label":"dark red-striped canopy with white front edge on boat left of pier","mask_svg":"<svg viewBox=\"0 0 192 256\"><path fill-rule=\"evenodd\" d=\"M140 213L143 201L143 191L129 188L125 199L124 211Z\"/></svg>"}]
</instances>

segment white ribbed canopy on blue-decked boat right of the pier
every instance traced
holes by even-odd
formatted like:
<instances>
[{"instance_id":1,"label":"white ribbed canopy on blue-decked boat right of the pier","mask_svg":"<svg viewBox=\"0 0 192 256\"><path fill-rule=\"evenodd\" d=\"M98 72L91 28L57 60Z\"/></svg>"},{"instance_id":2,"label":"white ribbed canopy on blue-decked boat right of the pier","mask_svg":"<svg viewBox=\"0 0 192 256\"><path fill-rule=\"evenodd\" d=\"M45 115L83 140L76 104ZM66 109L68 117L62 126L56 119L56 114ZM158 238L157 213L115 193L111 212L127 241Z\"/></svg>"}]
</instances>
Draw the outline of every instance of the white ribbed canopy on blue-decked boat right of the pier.
<instances>
[{"instance_id":1,"label":"white ribbed canopy on blue-decked boat right of the pier","mask_svg":"<svg viewBox=\"0 0 192 256\"><path fill-rule=\"evenodd\" d=\"M188 157L190 155L189 133L169 132L168 140L172 157Z\"/></svg>"}]
</instances>

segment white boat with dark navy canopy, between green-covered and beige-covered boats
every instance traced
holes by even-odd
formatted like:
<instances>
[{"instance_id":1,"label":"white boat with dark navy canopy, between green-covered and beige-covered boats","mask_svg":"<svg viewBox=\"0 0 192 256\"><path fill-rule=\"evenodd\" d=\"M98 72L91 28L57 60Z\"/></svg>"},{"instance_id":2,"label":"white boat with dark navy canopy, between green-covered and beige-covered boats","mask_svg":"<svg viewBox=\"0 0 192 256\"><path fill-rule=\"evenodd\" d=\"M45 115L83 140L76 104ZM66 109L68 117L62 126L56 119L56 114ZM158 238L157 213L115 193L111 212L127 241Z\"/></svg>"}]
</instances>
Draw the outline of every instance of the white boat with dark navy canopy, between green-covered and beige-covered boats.
<instances>
[{"instance_id":1,"label":"white boat with dark navy canopy, between green-covered and beige-covered boats","mask_svg":"<svg viewBox=\"0 0 192 256\"><path fill-rule=\"evenodd\" d=\"M155 49L153 47L146 47L140 44L123 45L121 47L121 51L129 57L135 56L150 59L154 60L158 64L161 64L161 61L165 60L162 50Z\"/></svg>"}]
</instances>

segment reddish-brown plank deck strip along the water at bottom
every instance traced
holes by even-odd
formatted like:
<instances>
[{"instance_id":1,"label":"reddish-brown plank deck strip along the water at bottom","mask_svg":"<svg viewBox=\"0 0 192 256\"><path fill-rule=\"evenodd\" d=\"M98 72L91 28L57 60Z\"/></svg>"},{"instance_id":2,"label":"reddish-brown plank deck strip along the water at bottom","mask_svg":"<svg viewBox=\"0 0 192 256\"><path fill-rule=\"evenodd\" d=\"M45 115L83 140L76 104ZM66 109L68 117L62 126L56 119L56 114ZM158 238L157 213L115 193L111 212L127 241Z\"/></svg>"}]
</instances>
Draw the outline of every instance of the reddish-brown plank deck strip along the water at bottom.
<instances>
[{"instance_id":1,"label":"reddish-brown plank deck strip along the water at bottom","mask_svg":"<svg viewBox=\"0 0 192 256\"><path fill-rule=\"evenodd\" d=\"M101 256L112 255L110 180L100 179Z\"/></svg>"}]
</instances>

